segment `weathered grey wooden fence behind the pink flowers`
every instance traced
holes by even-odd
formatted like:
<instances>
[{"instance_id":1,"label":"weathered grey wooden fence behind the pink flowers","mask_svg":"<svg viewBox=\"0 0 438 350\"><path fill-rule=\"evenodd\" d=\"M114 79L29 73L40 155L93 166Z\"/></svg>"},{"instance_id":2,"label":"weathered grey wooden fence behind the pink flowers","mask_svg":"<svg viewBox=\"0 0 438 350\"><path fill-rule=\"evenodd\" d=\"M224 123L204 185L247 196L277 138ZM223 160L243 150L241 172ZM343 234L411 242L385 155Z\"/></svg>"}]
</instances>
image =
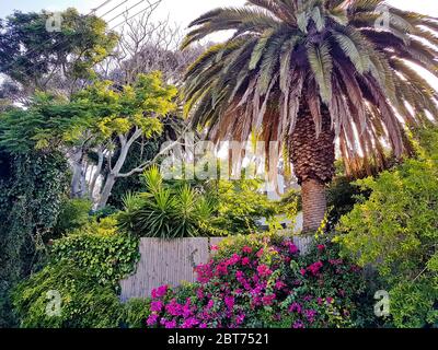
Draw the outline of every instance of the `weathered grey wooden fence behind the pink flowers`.
<instances>
[{"instance_id":1,"label":"weathered grey wooden fence behind the pink flowers","mask_svg":"<svg viewBox=\"0 0 438 350\"><path fill-rule=\"evenodd\" d=\"M223 238L180 238L164 241L160 238L141 238L140 261L137 271L120 281L123 302L131 298L146 298L152 289L160 285L178 285L182 282L195 282L194 268L206 264L211 257L210 246ZM295 244L302 252L311 237L296 237Z\"/></svg>"}]
</instances>

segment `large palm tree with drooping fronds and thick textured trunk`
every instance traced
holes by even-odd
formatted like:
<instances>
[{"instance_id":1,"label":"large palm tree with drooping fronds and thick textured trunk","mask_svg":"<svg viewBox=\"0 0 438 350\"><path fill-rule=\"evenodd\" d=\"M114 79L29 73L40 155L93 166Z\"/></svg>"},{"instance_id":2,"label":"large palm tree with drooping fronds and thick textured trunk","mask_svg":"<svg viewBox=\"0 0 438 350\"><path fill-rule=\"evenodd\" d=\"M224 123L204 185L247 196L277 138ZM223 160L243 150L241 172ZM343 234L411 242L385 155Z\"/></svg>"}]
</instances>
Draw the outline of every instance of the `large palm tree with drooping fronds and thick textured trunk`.
<instances>
[{"instance_id":1,"label":"large palm tree with drooping fronds and thick textured trunk","mask_svg":"<svg viewBox=\"0 0 438 350\"><path fill-rule=\"evenodd\" d=\"M438 77L435 18L381 0L249 0L191 27L183 47L233 31L186 73L193 125L215 141L255 131L279 142L302 186L304 232L324 218L336 149L350 174L381 168L389 154L412 152L411 125L438 115L437 93L415 68Z\"/></svg>"}]
</instances>

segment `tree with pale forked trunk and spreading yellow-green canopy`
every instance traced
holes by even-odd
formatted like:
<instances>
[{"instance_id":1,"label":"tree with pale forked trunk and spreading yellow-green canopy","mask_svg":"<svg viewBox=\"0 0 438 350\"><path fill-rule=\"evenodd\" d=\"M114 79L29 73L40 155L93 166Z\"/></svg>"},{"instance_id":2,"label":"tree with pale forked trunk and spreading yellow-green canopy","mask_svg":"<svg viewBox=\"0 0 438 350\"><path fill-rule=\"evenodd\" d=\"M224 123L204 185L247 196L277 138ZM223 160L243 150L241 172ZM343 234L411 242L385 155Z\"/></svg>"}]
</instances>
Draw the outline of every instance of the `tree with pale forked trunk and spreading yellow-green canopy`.
<instances>
[{"instance_id":1,"label":"tree with pale forked trunk and spreading yellow-green canopy","mask_svg":"<svg viewBox=\"0 0 438 350\"><path fill-rule=\"evenodd\" d=\"M35 149L68 153L80 164L72 174L71 197L83 197L88 190L93 195L99 177L104 177L96 200L102 208L117 178L141 173L149 164L140 162L123 173L134 143L161 133L161 117L175 108L175 95L176 88L163 83L159 72L140 74L131 85L95 82L71 100L39 93L28 108L0 115L0 148L14 154ZM88 159L89 152L97 154L96 164ZM87 168L94 165L88 184Z\"/></svg>"}]
</instances>

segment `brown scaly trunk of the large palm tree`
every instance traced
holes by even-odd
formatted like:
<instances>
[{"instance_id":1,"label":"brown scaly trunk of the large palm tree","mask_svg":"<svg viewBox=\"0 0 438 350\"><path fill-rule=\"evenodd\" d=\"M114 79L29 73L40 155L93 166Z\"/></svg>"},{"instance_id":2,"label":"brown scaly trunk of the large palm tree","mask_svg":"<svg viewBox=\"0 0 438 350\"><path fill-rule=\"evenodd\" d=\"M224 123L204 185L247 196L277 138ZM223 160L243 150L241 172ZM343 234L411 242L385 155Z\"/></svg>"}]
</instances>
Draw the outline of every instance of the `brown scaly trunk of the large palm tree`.
<instances>
[{"instance_id":1,"label":"brown scaly trunk of the large palm tree","mask_svg":"<svg viewBox=\"0 0 438 350\"><path fill-rule=\"evenodd\" d=\"M290 138L293 171L301 185L303 233L315 232L326 211L325 184L335 174L335 135L330 113L321 108L322 131L316 137L315 124L307 105L300 108L297 126Z\"/></svg>"}]
</instances>

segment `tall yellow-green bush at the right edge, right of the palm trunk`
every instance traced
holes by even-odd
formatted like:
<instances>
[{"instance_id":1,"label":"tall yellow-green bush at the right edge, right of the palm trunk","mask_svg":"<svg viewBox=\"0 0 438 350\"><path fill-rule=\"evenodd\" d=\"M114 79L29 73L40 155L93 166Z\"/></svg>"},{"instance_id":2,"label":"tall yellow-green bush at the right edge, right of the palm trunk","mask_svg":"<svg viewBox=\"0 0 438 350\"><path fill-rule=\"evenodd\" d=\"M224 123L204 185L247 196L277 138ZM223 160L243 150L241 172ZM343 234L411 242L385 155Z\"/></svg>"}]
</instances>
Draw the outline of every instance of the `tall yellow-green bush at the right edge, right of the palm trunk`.
<instances>
[{"instance_id":1,"label":"tall yellow-green bush at the right edge, right of the palm trunk","mask_svg":"<svg viewBox=\"0 0 438 350\"><path fill-rule=\"evenodd\" d=\"M338 228L344 254L385 280L397 327L438 322L438 131L420 140L417 159L358 182L371 195Z\"/></svg>"}]
</instances>

